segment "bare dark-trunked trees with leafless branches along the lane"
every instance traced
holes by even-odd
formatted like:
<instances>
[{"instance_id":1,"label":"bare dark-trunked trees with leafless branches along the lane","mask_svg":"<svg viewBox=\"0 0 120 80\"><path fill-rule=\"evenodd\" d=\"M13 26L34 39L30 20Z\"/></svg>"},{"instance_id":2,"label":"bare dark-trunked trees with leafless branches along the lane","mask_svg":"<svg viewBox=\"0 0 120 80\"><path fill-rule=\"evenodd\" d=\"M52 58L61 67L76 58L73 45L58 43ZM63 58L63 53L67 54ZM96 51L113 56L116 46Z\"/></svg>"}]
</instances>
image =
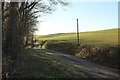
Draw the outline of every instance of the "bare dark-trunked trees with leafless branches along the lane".
<instances>
[{"instance_id":1,"label":"bare dark-trunked trees with leafless branches along the lane","mask_svg":"<svg viewBox=\"0 0 120 80\"><path fill-rule=\"evenodd\" d=\"M67 5L61 0L3 3L3 51L17 58L24 48L24 37L37 30L37 18L52 13L58 4Z\"/></svg>"}]
</instances>

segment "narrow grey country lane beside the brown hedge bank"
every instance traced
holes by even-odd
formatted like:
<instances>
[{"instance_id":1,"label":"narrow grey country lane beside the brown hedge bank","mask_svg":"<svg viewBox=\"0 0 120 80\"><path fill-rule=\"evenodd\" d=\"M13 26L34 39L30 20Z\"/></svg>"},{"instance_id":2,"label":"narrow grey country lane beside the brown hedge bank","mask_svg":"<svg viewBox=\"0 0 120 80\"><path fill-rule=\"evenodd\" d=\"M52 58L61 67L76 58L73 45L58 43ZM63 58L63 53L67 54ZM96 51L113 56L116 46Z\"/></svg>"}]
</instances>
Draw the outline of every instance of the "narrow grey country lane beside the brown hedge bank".
<instances>
[{"instance_id":1,"label":"narrow grey country lane beside the brown hedge bank","mask_svg":"<svg viewBox=\"0 0 120 80\"><path fill-rule=\"evenodd\" d=\"M55 52L51 50L42 50L46 54L53 55L56 58L61 59L64 62L73 64L78 67L81 71L86 73L92 78L119 78L119 73L117 69L108 68L85 59L80 59L72 55L63 54L60 52Z\"/></svg>"}]
</instances>

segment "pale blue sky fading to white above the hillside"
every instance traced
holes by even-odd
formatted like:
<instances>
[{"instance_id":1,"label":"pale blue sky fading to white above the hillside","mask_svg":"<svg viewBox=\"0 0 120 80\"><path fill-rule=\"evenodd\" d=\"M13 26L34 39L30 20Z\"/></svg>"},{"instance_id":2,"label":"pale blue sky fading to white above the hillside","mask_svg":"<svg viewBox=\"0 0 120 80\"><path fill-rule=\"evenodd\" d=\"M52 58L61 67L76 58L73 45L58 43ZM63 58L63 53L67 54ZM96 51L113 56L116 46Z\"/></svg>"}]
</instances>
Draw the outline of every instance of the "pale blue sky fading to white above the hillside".
<instances>
[{"instance_id":1,"label":"pale blue sky fading to white above the hillside","mask_svg":"<svg viewBox=\"0 0 120 80\"><path fill-rule=\"evenodd\" d=\"M118 27L118 2L70 2L39 18L36 35L112 29Z\"/></svg>"}]
</instances>

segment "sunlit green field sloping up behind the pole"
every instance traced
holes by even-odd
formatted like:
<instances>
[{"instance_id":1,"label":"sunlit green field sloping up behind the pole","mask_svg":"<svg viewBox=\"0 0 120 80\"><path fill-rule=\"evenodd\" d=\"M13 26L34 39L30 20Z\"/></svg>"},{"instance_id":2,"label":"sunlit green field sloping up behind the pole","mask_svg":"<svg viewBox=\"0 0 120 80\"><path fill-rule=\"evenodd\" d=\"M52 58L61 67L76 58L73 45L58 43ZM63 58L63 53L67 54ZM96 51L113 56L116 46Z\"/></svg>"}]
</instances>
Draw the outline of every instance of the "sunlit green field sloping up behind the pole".
<instances>
[{"instance_id":1,"label":"sunlit green field sloping up behind the pole","mask_svg":"<svg viewBox=\"0 0 120 80\"><path fill-rule=\"evenodd\" d=\"M118 43L118 29L107 29L91 32L80 33L80 43L89 45L112 45L116 46ZM45 36L37 36L38 40L57 40L65 42L77 42L76 33L58 33Z\"/></svg>"}]
</instances>

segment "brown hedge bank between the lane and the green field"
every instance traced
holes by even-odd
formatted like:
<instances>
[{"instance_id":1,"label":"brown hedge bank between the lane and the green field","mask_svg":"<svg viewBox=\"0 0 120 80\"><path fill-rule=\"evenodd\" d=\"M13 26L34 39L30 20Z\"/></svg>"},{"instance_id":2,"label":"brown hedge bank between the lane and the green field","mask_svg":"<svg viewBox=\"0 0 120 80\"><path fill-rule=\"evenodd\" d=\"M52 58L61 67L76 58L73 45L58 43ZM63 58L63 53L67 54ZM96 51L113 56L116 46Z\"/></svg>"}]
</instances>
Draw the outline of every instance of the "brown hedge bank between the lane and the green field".
<instances>
[{"instance_id":1,"label":"brown hedge bank between the lane and the green field","mask_svg":"<svg viewBox=\"0 0 120 80\"><path fill-rule=\"evenodd\" d=\"M120 56L118 47L91 47L83 44L77 46L77 44L72 43L48 43L46 48L118 68Z\"/></svg>"}]
</instances>

